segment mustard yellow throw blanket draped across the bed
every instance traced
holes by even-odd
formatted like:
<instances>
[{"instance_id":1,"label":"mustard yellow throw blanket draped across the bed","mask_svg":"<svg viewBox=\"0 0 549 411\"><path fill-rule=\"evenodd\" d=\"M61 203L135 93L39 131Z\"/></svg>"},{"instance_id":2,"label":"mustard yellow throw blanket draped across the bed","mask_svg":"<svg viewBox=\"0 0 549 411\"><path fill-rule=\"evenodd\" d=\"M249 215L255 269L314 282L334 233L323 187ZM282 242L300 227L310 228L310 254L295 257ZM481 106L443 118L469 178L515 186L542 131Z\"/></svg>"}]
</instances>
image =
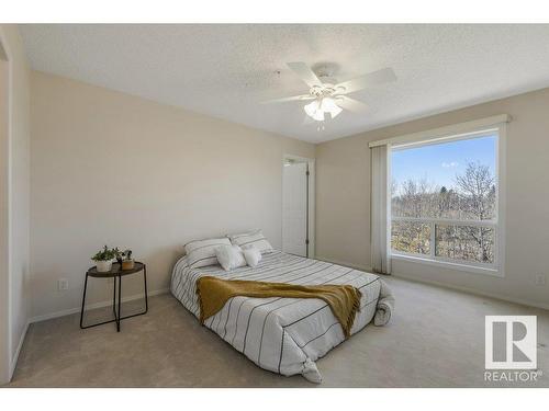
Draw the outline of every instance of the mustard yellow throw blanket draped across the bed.
<instances>
[{"instance_id":1,"label":"mustard yellow throw blanket draped across the bed","mask_svg":"<svg viewBox=\"0 0 549 411\"><path fill-rule=\"evenodd\" d=\"M200 302L200 322L220 311L229 298L320 298L329 305L345 333L349 338L355 316L360 309L360 292L351 285L294 285L240 279L221 279L204 276L197 282Z\"/></svg>"}]
</instances>

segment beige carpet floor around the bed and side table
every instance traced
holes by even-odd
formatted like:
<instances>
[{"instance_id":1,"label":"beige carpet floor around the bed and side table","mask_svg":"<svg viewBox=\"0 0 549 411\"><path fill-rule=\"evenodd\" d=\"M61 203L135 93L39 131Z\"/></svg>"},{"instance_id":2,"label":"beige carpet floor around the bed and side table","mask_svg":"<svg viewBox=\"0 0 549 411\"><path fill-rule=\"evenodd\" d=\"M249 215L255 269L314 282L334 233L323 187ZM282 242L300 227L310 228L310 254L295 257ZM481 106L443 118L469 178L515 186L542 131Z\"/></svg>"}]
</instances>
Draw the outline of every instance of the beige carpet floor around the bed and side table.
<instances>
[{"instance_id":1,"label":"beige carpet floor around the bed and side table","mask_svg":"<svg viewBox=\"0 0 549 411\"><path fill-rule=\"evenodd\" d=\"M149 312L125 320L120 333L113 323L80 330L78 315L31 324L10 386L524 387L484 381L484 316L536 315L542 375L529 386L549 387L549 311L386 281L396 296L391 323L368 326L318 359L320 386L258 368L200 327L171 295L150 298Z\"/></svg>"}]
</instances>

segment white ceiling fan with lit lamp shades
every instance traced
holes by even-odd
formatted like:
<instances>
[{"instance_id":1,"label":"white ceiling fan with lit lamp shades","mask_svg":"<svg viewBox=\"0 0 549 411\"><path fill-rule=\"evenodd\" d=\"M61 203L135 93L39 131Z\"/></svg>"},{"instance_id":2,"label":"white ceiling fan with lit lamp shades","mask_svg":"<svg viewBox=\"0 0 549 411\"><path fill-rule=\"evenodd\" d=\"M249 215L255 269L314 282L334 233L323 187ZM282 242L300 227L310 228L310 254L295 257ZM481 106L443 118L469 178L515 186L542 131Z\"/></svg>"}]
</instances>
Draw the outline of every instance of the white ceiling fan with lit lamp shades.
<instances>
[{"instance_id":1,"label":"white ceiling fan with lit lamp shades","mask_svg":"<svg viewBox=\"0 0 549 411\"><path fill-rule=\"evenodd\" d=\"M324 122L326 114L335 118L343 110L361 113L368 106L347 94L363 90L373 84L396 81L392 68L386 67L372 71L366 76L337 83L326 70L318 70L318 76L303 61L288 62L288 67L295 72L309 87L307 94L293 95L290 98L269 100L264 103L285 103L290 101L303 101L310 103L303 107L309 117Z\"/></svg>"}]
</instances>

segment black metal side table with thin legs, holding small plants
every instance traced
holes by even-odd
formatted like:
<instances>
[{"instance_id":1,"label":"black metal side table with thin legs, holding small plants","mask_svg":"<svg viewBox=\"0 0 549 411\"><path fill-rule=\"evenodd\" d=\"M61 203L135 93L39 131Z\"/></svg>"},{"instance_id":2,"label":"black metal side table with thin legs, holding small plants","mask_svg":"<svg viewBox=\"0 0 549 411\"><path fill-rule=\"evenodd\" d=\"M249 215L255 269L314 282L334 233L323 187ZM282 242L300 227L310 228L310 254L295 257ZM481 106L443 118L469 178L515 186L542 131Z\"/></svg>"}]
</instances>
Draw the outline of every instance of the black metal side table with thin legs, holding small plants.
<instances>
[{"instance_id":1,"label":"black metal side table with thin legs, holding small plants","mask_svg":"<svg viewBox=\"0 0 549 411\"><path fill-rule=\"evenodd\" d=\"M121 317L121 311L120 311L120 305L122 300L122 277L125 275L130 274L135 274L138 272L143 272L143 282L145 286L145 310L143 312L137 312L131 316L126 317ZM88 288L88 277L96 277L96 278L114 278L114 293L112 296L112 312L114 313L114 319L108 320L108 321L102 321L98 322L96 324L89 324L89 326L83 326L83 307L86 305L86 290ZM116 287L116 278L119 279L119 286ZM116 301L116 288L119 290L117 295L117 301ZM117 306L117 309L116 309ZM130 270L122 270L119 263L113 263L111 271L108 271L105 273L100 273L97 270L97 266L92 266L86 272L86 281L83 283L83 296L82 296L82 310L80 311L80 328L87 329L91 327L98 327L102 324L107 324L110 322L116 322L116 331L120 332L120 322L122 320L125 320L126 318L132 318L136 316L143 316L144 313L147 313L148 311L148 296L147 296L147 266L144 263L135 262L134 267Z\"/></svg>"}]
</instances>

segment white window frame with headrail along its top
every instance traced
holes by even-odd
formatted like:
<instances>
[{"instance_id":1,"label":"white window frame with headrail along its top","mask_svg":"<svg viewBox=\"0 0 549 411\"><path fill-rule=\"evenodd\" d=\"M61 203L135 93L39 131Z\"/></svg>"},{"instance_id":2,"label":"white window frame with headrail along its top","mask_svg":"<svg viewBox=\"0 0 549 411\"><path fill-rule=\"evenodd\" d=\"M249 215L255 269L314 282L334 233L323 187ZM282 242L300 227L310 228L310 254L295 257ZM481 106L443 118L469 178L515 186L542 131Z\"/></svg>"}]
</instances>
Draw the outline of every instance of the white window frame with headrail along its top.
<instances>
[{"instance_id":1,"label":"white window frame with headrail along its top","mask_svg":"<svg viewBox=\"0 0 549 411\"><path fill-rule=\"evenodd\" d=\"M395 252L392 247L389 247L389 252L391 259L410 261L414 263L435 265L439 267L446 267L451 270L464 271L477 274L488 274L498 277L505 276L505 158L506 158L506 125L511 122L508 115L498 115L488 118L481 118L473 122L467 122L461 124L456 124L448 127L441 127L433 130L426 130L421 133L414 133L411 135L405 135L401 137L395 137L386 140L373 141L370 147L378 145L388 145L388 156L391 156L393 150L406 149L412 147L422 147L426 145L464 140L471 138L479 138L484 135L496 134L496 152L495 152L495 180L496 180L496 209L495 218L493 220L453 220L453 219L440 219L440 218L408 218L408 217L392 217L392 212L388 213L388 224L391 227L392 220L404 220L404 221L422 221L430 224L430 255ZM388 178L388 184L391 183L391 176ZM389 187L388 187L389 189ZM390 197L390 190L388 190L388 196ZM388 198L388 205L391 207L391 198ZM478 263L464 260L447 259L444 256L435 255L436 242L435 242L435 226L437 224L447 224L453 226L482 226L482 227L493 227L494 228L494 263ZM391 230L391 228L389 228ZM391 232L391 231L390 231ZM389 236L391 237L391 236ZM391 242L391 241L390 241Z\"/></svg>"}]
</instances>

